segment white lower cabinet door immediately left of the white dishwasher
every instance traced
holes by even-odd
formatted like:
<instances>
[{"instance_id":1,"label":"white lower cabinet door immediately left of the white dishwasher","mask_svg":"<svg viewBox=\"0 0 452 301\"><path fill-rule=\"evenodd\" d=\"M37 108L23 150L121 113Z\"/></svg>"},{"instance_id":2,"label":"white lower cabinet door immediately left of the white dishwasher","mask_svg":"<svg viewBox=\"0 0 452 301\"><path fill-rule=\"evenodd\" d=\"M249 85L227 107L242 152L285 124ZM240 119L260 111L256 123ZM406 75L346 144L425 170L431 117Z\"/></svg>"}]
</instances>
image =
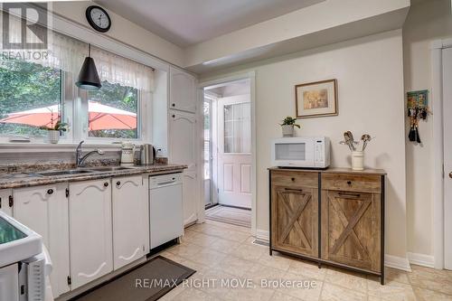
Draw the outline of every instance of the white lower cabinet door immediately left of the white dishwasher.
<instances>
[{"instance_id":1,"label":"white lower cabinet door immediately left of the white dishwasher","mask_svg":"<svg viewBox=\"0 0 452 301\"><path fill-rule=\"evenodd\" d=\"M112 182L113 267L118 269L149 251L148 199L141 175Z\"/></svg>"}]
</instances>

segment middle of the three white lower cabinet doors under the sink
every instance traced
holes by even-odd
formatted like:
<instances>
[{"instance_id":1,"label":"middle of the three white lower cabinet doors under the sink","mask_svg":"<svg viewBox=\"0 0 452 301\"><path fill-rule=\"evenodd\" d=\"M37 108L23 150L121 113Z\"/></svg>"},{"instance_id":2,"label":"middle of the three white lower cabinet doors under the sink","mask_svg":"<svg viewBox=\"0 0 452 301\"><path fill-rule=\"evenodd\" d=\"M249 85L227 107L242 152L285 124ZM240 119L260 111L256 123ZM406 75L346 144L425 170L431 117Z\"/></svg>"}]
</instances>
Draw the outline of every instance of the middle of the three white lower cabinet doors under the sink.
<instances>
[{"instance_id":1,"label":"middle of the three white lower cabinet doors under the sink","mask_svg":"<svg viewBox=\"0 0 452 301\"><path fill-rule=\"evenodd\" d=\"M110 179L70 183L72 289L113 270Z\"/></svg>"}]
</instances>

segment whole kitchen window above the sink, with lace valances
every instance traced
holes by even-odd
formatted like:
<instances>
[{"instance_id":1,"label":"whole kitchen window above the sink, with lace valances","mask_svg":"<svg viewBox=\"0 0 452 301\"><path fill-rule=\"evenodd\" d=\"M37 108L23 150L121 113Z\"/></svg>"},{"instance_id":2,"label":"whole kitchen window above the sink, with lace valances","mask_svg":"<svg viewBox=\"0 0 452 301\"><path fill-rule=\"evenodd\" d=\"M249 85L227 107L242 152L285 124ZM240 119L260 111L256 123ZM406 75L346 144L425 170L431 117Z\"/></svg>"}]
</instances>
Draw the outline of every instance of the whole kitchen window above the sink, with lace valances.
<instances>
[{"instance_id":1,"label":"whole kitchen window above the sink, with lace valances","mask_svg":"<svg viewBox=\"0 0 452 301\"><path fill-rule=\"evenodd\" d=\"M20 26L17 34L20 36ZM44 27L42 31L47 31ZM1 28L0 28L1 34ZM91 47L102 88L78 89L75 81L88 44L50 31L48 56L0 58L0 142L28 136L44 142L46 130L61 119L65 143L148 140L154 70L99 47Z\"/></svg>"}]
</instances>

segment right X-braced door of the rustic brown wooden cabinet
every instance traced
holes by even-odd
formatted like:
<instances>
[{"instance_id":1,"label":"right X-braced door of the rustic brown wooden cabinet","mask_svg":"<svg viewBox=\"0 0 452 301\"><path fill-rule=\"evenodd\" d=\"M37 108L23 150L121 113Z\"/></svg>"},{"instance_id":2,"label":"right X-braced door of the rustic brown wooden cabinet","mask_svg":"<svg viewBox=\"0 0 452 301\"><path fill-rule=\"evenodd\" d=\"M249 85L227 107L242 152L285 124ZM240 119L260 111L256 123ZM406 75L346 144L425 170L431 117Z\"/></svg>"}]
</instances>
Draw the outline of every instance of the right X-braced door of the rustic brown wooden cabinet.
<instances>
[{"instance_id":1,"label":"right X-braced door of the rustic brown wooden cabinet","mask_svg":"<svg viewBox=\"0 0 452 301\"><path fill-rule=\"evenodd\" d=\"M380 194L322 193L322 259L376 272L380 258Z\"/></svg>"}]
</instances>

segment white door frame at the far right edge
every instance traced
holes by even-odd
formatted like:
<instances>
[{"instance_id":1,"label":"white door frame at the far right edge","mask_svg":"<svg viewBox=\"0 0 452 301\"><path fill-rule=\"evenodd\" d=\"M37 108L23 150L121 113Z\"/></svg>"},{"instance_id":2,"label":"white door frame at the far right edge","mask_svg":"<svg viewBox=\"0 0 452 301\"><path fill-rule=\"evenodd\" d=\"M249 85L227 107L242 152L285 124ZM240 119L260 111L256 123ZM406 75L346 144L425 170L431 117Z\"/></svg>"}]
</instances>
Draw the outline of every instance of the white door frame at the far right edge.
<instances>
[{"instance_id":1,"label":"white door frame at the far right edge","mask_svg":"<svg viewBox=\"0 0 452 301\"><path fill-rule=\"evenodd\" d=\"M430 43L432 65L431 103L433 122L433 251L435 268L444 268L445 259L445 211L444 211L444 116L443 116L443 49L452 48L452 39ZM438 114L435 114L438 112Z\"/></svg>"}]
</instances>

